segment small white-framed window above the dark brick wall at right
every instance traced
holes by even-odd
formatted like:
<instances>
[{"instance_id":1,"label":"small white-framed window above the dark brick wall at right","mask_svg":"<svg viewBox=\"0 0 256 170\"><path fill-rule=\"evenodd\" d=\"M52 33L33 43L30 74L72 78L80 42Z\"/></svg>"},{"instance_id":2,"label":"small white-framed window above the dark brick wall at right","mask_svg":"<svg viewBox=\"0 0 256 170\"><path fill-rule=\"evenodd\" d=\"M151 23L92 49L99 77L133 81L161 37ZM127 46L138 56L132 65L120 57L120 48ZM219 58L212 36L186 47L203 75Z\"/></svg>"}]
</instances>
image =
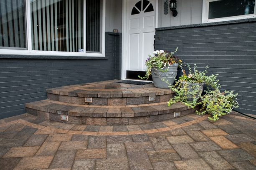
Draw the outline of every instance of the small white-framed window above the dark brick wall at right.
<instances>
[{"instance_id":1,"label":"small white-framed window above the dark brick wall at right","mask_svg":"<svg viewBox=\"0 0 256 170\"><path fill-rule=\"evenodd\" d=\"M256 17L255 0L203 0L203 23L252 17Z\"/></svg>"}]
</instances>

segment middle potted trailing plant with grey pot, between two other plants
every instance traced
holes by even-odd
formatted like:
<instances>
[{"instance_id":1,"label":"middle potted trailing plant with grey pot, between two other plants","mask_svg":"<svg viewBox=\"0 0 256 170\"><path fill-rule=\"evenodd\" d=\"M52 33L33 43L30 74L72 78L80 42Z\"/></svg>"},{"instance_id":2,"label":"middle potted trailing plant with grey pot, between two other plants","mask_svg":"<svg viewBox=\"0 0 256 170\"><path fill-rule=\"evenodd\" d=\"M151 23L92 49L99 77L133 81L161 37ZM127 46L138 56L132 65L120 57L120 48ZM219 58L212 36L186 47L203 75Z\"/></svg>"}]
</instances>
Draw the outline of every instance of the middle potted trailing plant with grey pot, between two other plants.
<instances>
[{"instance_id":1,"label":"middle potted trailing plant with grey pot, between two other plants","mask_svg":"<svg viewBox=\"0 0 256 170\"><path fill-rule=\"evenodd\" d=\"M205 68L205 71L198 71L198 67L195 64L192 71L188 64L189 74L187 75L183 69L183 75L179 77L174 85L170 86L170 89L175 91L176 94L170 99L168 106L177 102L182 102L186 106L194 108L199 104L198 100L202 96L204 85L208 90L209 88L218 89L220 87L218 80L216 79L218 74L208 76L206 75L208 72L207 69L208 66Z\"/></svg>"}]
</instances>

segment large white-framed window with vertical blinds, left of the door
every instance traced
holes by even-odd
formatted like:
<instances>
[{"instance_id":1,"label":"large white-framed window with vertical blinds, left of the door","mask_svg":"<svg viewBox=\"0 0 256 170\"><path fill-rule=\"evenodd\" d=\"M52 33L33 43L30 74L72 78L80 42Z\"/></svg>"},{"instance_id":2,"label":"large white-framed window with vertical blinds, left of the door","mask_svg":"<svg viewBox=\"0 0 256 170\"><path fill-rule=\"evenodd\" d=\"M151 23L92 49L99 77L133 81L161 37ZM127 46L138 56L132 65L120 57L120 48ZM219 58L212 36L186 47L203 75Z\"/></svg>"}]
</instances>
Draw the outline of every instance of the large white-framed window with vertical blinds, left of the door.
<instances>
[{"instance_id":1,"label":"large white-framed window with vertical blinds, left of the door","mask_svg":"<svg viewBox=\"0 0 256 170\"><path fill-rule=\"evenodd\" d=\"M0 54L103 57L104 5L105 0L0 0Z\"/></svg>"}]
</instances>

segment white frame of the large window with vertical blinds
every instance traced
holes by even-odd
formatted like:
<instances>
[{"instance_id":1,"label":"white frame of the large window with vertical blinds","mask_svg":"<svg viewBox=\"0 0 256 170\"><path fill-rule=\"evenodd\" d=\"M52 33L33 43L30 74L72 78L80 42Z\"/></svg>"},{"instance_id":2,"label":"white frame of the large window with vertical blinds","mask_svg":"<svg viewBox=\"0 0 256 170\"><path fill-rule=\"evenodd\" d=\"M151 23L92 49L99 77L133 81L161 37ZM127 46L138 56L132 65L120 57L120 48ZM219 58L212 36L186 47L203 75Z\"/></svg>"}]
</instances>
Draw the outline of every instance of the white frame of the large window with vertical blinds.
<instances>
[{"instance_id":1,"label":"white frame of the large window with vertical blinds","mask_svg":"<svg viewBox=\"0 0 256 170\"><path fill-rule=\"evenodd\" d=\"M32 49L31 35L31 16L30 16L30 0L25 0L25 18L26 18L26 36L27 49L0 49L0 54L15 54L15 55L45 55L45 56L79 56L79 57L105 57L105 15L106 0L102 0L102 52L89 53L86 52L86 0L84 0L84 52L55 52L55 51L40 51Z\"/></svg>"}]
</instances>

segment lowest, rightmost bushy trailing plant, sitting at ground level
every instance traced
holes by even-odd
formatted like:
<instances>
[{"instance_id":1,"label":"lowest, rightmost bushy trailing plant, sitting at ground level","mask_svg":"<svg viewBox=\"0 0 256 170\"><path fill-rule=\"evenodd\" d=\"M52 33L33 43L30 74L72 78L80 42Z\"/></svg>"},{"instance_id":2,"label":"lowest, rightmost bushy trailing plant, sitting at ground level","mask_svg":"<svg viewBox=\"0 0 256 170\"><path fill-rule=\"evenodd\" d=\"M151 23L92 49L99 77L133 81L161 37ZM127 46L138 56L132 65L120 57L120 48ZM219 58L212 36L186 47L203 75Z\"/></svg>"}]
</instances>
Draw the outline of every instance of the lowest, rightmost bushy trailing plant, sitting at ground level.
<instances>
[{"instance_id":1,"label":"lowest, rightmost bushy trailing plant, sitting at ground level","mask_svg":"<svg viewBox=\"0 0 256 170\"><path fill-rule=\"evenodd\" d=\"M238 108L237 95L237 93L233 94L233 91L221 92L219 89L206 91L200 100L202 107L196 113L208 113L210 115L208 118L216 121L221 116L231 113L233 108Z\"/></svg>"}]
</instances>

